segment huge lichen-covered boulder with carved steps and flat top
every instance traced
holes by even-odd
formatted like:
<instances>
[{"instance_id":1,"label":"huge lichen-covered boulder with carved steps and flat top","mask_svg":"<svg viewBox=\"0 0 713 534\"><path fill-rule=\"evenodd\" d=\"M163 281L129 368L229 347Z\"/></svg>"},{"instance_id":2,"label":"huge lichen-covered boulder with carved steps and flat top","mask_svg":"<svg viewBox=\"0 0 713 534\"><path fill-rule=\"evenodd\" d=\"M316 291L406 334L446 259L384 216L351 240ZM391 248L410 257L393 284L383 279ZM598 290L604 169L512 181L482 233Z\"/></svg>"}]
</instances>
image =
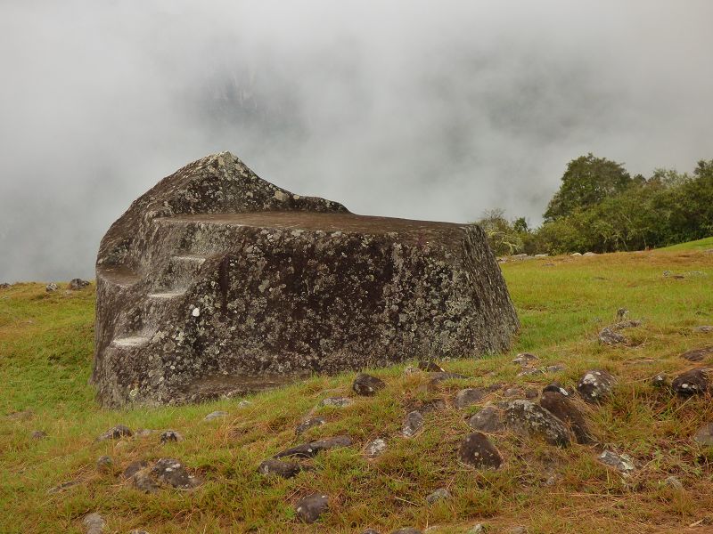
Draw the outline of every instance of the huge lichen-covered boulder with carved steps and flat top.
<instances>
[{"instance_id":1,"label":"huge lichen-covered boulder with carved steps and flat top","mask_svg":"<svg viewBox=\"0 0 713 534\"><path fill-rule=\"evenodd\" d=\"M96 281L92 378L111 407L498 352L519 326L479 227L350 214L227 152L135 200Z\"/></svg>"}]
</instances>

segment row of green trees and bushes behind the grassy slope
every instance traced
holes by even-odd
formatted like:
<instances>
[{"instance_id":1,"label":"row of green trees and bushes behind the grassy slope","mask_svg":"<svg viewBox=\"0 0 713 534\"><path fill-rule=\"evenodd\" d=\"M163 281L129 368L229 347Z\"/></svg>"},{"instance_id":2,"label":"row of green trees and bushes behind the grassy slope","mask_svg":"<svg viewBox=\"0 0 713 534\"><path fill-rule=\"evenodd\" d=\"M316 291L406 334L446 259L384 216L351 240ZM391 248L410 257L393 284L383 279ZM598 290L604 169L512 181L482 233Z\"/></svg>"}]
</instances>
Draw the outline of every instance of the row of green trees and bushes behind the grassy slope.
<instances>
[{"instance_id":1,"label":"row of green trees and bushes behind the grassy slope","mask_svg":"<svg viewBox=\"0 0 713 534\"><path fill-rule=\"evenodd\" d=\"M713 159L693 174L657 169L631 176L620 163L589 153L573 159L543 215L487 211L477 221L496 255L617 252L667 247L713 235Z\"/></svg>"}]
</instances>

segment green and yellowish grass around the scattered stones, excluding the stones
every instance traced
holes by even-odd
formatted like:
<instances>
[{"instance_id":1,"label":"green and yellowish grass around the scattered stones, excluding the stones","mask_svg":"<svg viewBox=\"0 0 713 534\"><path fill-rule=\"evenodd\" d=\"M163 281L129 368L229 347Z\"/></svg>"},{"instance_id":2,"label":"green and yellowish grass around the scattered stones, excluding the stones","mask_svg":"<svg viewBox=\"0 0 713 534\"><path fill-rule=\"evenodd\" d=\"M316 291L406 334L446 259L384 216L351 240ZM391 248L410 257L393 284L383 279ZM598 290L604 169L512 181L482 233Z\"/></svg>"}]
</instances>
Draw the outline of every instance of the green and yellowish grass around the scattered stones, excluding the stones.
<instances>
[{"instance_id":1,"label":"green and yellowish grass around the scattered stones, excluding the stones","mask_svg":"<svg viewBox=\"0 0 713 534\"><path fill-rule=\"evenodd\" d=\"M91 372L94 292L45 293L44 285L0 289L0 532L82 532L81 518L99 512L105 532L133 529L193 532L362 532L382 533L415 526L429 532L466 532L477 522L488 532L524 525L551 532L711 532L713 455L692 440L713 421L707 398L681 400L650 384L660 372L695 367L679 357L713 344L713 334L693 327L713 324L713 239L699 245L593 257L560 256L505 263L504 275L520 314L522 330L512 351L482 360L441 362L469 376L423 392L422 374L405 375L406 364L373 370L388 387L372 398L355 397L343 409L322 408L327 424L302 439L294 427L318 401L352 396L354 374L316 376L281 390L239 400L164 409L107 411L94 403ZM664 277L664 271L684 278ZM596 334L626 307L643 326L627 330L631 344L602 346ZM517 376L517 352L535 352L541 365L566 366L545 376ZM413 362L411 362L413 364ZM710 365L710 362L709 362ZM406 407L415 402L451 401L466 385L541 388L556 379L571 386L589 368L619 377L611 399L588 414L598 444L555 449L504 433L493 441L504 457L497 471L459 465L456 451L469 433L465 416L479 406L426 414L425 431L397 437ZM500 400L494 392L491 401ZM209 412L230 416L204 422ZM6 417L31 410L26 417ZM157 434L94 442L113 425L172 428L184 441L161 445ZM33 431L47 437L33 440ZM259 462L307 438L348 433L355 446L314 460L316 470L291 480L264 478ZM389 436L389 449L365 460L361 447ZM600 464L606 447L631 456L635 472L626 479ZM110 455L114 474L100 474L97 457ZM118 476L136 459L177 457L204 480L193 491L162 490L145 495ZM663 481L675 475L684 490ZM64 481L66 490L48 493ZM446 487L452 498L428 505L425 497ZM314 525L296 521L294 501L320 491L330 512Z\"/></svg>"}]
</instances>

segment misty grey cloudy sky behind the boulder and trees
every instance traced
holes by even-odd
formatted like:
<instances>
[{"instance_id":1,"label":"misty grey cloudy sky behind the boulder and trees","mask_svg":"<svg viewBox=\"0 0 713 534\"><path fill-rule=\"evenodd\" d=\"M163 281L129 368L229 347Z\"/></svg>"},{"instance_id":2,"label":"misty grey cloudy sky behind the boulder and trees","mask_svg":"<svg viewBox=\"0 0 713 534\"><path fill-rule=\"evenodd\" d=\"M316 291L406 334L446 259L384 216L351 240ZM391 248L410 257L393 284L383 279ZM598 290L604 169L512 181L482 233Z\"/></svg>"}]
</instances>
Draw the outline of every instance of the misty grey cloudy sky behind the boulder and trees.
<instances>
[{"instance_id":1,"label":"misty grey cloudy sky behind the boulder and trees","mask_svg":"<svg viewBox=\"0 0 713 534\"><path fill-rule=\"evenodd\" d=\"M570 159L713 158L710 0L0 0L0 282L230 150L359 214L540 222Z\"/></svg>"}]
</instances>

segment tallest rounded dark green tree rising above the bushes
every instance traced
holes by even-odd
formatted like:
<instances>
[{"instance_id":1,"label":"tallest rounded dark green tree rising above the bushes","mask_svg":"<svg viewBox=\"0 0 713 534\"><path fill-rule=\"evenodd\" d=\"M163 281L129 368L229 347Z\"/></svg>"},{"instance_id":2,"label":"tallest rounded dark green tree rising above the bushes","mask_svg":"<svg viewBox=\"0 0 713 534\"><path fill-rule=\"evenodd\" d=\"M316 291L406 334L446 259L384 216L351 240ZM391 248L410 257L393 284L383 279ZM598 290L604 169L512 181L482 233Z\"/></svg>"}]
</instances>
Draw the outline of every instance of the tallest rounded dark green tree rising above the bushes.
<instances>
[{"instance_id":1,"label":"tallest rounded dark green tree rising above the bushes","mask_svg":"<svg viewBox=\"0 0 713 534\"><path fill-rule=\"evenodd\" d=\"M620 163L596 158L591 152L572 159L562 175L560 190L547 206L545 221L554 221L577 209L596 206L605 198L626 190L632 183L634 181Z\"/></svg>"}]
</instances>

